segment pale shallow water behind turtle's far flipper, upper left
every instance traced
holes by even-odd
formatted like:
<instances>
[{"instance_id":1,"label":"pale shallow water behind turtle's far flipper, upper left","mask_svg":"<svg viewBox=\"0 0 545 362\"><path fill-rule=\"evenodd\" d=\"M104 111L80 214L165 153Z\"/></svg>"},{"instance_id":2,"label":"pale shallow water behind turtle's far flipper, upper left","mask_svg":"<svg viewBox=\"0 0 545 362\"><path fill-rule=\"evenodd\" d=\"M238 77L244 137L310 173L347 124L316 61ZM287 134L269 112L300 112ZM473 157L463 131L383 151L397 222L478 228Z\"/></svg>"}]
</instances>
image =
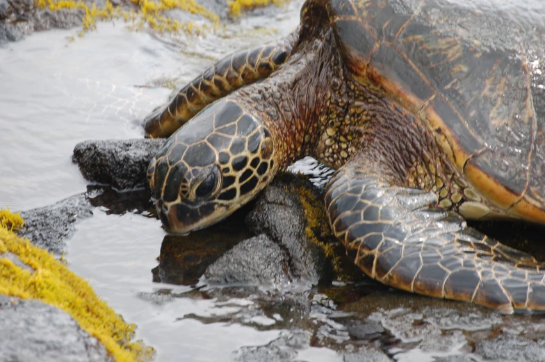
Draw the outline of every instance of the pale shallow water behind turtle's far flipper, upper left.
<instances>
[{"instance_id":1,"label":"pale shallow water behind turtle's far flipper, upper left","mask_svg":"<svg viewBox=\"0 0 545 362\"><path fill-rule=\"evenodd\" d=\"M302 1L247 17L218 33L170 38L123 22L34 33L0 47L0 205L26 210L84 190L72 165L77 142L139 138L140 121L214 60L287 35ZM24 176L22 176L24 175Z\"/></svg>"}]
</instances>

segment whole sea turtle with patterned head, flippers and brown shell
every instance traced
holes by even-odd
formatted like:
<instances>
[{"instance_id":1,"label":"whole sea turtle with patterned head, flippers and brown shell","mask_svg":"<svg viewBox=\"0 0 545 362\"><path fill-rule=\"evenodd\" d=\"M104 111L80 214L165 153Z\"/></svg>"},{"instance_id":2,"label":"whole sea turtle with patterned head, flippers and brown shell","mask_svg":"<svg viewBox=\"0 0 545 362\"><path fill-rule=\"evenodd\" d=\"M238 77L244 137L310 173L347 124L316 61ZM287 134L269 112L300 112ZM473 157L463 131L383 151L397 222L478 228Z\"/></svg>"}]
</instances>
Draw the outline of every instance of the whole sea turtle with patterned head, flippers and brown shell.
<instances>
[{"instance_id":1,"label":"whole sea turtle with patterned head, flippers and brown shell","mask_svg":"<svg viewBox=\"0 0 545 362\"><path fill-rule=\"evenodd\" d=\"M545 4L533 6L307 0L286 39L220 60L147 119L170 136L148 172L165 229L222 220L310 155L336 169L327 215L369 277L545 311L545 265L464 221L545 224Z\"/></svg>"}]
</instances>

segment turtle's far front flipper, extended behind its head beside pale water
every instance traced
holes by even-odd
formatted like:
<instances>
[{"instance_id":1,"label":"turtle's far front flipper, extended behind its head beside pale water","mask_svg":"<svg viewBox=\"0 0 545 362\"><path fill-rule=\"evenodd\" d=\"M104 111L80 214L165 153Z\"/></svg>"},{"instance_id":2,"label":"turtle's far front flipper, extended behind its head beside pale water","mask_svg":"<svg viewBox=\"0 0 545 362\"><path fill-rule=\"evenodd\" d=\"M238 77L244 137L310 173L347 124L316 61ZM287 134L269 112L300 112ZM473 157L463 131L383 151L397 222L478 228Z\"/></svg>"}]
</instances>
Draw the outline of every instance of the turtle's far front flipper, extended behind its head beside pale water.
<instances>
[{"instance_id":1,"label":"turtle's far front flipper, extended behind its head beside pale water","mask_svg":"<svg viewBox=\"0 0 545 362\"><path fill-rule=\"evenodd\" d=\"M238 51L215 63L176 94L165 108L145 120L145 131L153 138L168 137L213 101L233 90L265 79L286 62L296 38L286 38Z\"/></svg>"}]
</instances>

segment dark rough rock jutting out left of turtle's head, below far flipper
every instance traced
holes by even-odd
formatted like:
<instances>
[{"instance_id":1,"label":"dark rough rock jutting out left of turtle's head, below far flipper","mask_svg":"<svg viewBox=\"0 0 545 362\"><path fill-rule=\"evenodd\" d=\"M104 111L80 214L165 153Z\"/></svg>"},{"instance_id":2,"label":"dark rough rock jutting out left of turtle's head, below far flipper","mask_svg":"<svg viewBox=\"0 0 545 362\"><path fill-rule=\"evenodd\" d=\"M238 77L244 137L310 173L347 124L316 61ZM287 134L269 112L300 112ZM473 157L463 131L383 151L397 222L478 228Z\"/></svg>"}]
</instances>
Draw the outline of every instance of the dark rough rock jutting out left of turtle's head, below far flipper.
<instances>
[{"instance_id":1,"label":"dark rough rock jutting out left of turtle's head, below far flipper","mask_svg":"<svg viewBox=\"0 0 545 362\"><path fill-rule=\"evenodd\" d=\"M72 160L83 177L117 190L147 187L149 161L165 140L91 140L74 147Z\"/></svg>"}]
</instances>

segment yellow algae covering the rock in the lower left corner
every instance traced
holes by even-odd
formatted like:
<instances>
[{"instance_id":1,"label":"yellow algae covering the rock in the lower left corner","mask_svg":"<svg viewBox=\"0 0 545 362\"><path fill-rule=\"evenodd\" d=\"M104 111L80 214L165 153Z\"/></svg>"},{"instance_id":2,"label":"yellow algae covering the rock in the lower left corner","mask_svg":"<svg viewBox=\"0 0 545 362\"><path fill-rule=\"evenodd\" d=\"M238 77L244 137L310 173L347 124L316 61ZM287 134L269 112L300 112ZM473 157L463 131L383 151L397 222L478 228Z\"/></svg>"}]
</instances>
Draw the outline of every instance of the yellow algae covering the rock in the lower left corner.
<instances>
[{"instance_id":1,"label":"yellow algae covering the rock in the lower left corner","mask_svg":"<svg viewBox=\"0 0 545 362\"><path fill-rule=\"evenodd\" d=\"M1 210L0 215L1 220L22 221L9 211ZM87 281L77 277L52 254L10 231L15 229L13 221L2 222L0 227L0 294L39 299L69 313L82 329L100 340L117 362L151 360L154 349L132 341L134 324L124 322L95 295ZM20 268L2 256L6 253L15 254L33 270Z\"/></svg>"}]
</instances>

